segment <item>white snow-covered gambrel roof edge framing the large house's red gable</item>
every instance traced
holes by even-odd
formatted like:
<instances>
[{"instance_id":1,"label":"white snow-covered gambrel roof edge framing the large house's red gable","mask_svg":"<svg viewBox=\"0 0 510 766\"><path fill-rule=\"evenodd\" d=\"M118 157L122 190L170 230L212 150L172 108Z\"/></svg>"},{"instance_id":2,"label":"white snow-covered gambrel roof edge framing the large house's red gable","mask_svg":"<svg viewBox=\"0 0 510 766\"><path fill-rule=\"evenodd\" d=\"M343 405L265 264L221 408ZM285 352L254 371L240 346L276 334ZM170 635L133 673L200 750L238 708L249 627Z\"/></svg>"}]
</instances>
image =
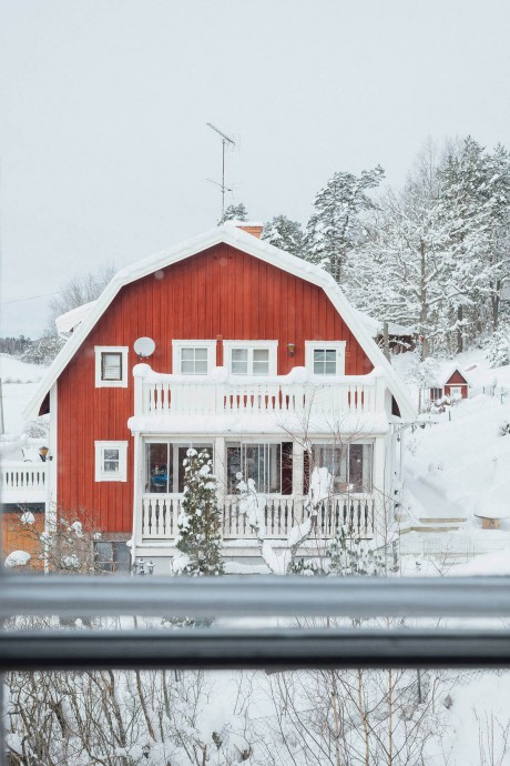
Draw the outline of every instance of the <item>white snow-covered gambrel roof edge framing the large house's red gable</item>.
<instances>
[{"instance_id":1,"label":"white snow-covered gambrel roof edge framing the large house's red gable","mask_svg":"<svg viewBox=\"0 0 510 766\"><path fill-rule=\"evenodd\" d=\"M228 223L211 229L198 236L181 242L170 250L163 250L160 253L155 253L154 255L150 255L149 258L121 269L103 290L95 303L90 308L90 311L86 312L82 322L54 359L45 375L41 379L33 396L23 411L23 416L27 420L32 420L38 416L44 396L58 381L62 371L123 286L221 243L231 245L236 250L258 258L261 261L265 261L277 269L282 269L294 276L322 288L346 322L347 326L356 336L374 366L380 366L385 370L388 387L397 401L402 419L405 421L415 420L415 407L402 383L382 352L377 347L377 344L370 336L370 332L367 330L365 323L360 321L355 309L348 303L333 276L320 266L304 261L296 255L290 255L279 248L275 248L268 242L258 240L256 236L247 234Z\"/></svg>"}]
</instances>

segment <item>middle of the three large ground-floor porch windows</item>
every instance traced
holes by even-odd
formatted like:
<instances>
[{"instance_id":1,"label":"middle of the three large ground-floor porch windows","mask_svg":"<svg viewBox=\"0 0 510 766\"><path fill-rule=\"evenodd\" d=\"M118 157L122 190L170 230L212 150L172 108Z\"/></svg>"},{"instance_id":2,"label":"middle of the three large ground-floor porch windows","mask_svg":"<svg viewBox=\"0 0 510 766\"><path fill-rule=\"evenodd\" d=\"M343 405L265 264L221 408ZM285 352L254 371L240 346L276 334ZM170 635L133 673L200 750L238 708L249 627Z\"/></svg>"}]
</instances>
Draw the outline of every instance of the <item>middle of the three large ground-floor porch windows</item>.
<instances>
[{"instance_id":1,"label":"middle of the three large ground-floor porch windows","mask_svg":"<svg viewBox=\"0 0 510 766\"><path fill-rule=\"evenodd\" d=\"M261 494L292 494L292 443L226 445L228 493L237 492L237 474L253 478Z\"/></svg>"}]
</instances>

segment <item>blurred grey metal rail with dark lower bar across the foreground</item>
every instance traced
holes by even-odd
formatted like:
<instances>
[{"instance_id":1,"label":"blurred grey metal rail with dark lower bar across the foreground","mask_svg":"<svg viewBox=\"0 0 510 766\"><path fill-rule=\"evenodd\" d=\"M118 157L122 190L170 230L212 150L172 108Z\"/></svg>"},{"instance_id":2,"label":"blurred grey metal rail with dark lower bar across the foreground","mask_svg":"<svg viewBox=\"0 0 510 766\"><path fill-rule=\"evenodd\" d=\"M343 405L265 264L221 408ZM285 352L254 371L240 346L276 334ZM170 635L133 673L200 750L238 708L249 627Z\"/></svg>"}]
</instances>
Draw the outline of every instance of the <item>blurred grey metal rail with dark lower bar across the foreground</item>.
<instances>
[{"instance_id":1,"label":"blurred grey metal rail with dark lower bar across the foreground","mask_svg":"<svg viewBox=\"0 0 510 766\"><path fill-rule=\"evenodd\" d=\"M195 629L0 631L0 669L83 667L510 667L510 631L459 629L458 618L510 617L510 577L4 576L0 617L220 618ZM286 618L246 629L244 618ZM325 629L295 617L456 618L456 628ZM244 627L235 627L236 619ZM220 627L221 625L224 627ZM335 621L330 621L335 625ZM486 623L487 624L487 623Z\"/></svg>"}]
</instances>

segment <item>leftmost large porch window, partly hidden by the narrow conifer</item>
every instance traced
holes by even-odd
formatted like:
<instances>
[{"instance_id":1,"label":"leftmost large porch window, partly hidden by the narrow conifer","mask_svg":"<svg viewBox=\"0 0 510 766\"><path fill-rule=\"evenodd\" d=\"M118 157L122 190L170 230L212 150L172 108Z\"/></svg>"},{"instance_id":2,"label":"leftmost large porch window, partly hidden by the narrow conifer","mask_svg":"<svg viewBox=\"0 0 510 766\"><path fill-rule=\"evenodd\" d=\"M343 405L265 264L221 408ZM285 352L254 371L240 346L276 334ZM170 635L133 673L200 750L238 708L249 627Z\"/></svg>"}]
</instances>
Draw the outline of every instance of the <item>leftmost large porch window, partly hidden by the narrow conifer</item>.
<instances>
[{"instance_id":1,"label":"leftmost large porch window, partly hidden by the narrow conifer","mask_svg":"<svg viewBox=\"0 0 510 766\"><path fill-rule=\"evenodd\" d=\"M207 450L213 460L212 444L191 444L175 442L145 443L145 492L184 492L184 465L190 447L197 452Z\"/></svg>"}]
</instances>

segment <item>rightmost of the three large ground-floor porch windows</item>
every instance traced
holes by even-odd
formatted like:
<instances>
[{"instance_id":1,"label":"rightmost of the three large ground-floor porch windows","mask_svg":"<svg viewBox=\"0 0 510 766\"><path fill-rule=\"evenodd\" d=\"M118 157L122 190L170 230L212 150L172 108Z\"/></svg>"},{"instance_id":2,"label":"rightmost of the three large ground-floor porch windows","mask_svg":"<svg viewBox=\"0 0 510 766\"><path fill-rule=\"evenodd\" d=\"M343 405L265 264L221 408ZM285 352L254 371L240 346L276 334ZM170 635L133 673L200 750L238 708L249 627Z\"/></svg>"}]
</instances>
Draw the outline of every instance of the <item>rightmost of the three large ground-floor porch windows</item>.
<instances>
[{"instance_id":1,"label":"rightmost of the three large ground-floor porch windows","mask_svg":"<svg viewBox=\"0 0 510 766\"><path fill-rule=\"evenodd\" d=\"M371 492L373 444L313 444L305 460L305 492L315 467L327 468L333 476L333 492Z\"/></svg>"}]
</instances>

